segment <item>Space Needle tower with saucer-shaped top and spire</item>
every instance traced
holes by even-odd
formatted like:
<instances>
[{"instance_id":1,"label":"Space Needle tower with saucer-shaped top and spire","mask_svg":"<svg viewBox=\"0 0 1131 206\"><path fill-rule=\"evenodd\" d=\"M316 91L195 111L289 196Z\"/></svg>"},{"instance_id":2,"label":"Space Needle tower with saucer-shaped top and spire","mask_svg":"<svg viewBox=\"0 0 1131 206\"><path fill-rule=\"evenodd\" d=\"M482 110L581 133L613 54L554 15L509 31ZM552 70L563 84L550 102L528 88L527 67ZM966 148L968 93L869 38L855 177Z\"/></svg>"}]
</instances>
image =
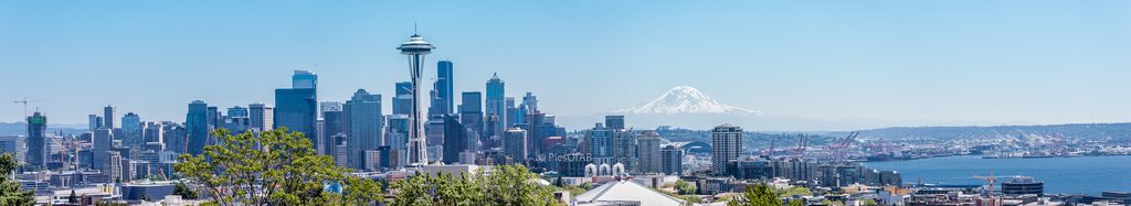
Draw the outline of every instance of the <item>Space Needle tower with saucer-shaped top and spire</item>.
<instances>
[{"instance_id":1,"label":"Space Needle tower with saucer-shaped top and spire","mask_svg":"<svg viewBox=\"0 0 1131 206\"><path fill-rule=\"evenodd\" d=\"M413 79L413 114L409 115L412 128L408 131L408 163L415 165L428 164L428 143L424 138L424 122L421 114L421 72L424 68L424 55L432 53L432 44L424 42L424 37L413 34L408 42L397 46L400 54L408 55L408 70Z\"/></svg>"}]
</instances>

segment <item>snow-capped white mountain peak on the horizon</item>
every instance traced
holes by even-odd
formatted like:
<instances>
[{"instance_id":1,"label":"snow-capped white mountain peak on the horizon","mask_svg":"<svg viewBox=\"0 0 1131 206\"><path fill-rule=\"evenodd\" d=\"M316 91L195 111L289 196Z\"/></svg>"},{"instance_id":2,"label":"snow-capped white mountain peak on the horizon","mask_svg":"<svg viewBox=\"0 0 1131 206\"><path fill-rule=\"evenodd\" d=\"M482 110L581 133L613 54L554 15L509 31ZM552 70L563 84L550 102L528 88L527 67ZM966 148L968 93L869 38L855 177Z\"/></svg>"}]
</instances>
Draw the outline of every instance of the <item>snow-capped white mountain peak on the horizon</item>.
<instances>
[{"instance_id":1,"label":"snow-capped white mountain peak on the horizon","mask_svg":"<svg viewBox=\"0 0 1131 206\"><path fill-rule=\"evenodd\" d=\"M679 86L672 88L656 100L631 109L621 109L613 113L622 114L735 114L735 115L760 115L761 111L723 105L711 99L706 93L696 88Z\"/></svg>"}]
</instances>

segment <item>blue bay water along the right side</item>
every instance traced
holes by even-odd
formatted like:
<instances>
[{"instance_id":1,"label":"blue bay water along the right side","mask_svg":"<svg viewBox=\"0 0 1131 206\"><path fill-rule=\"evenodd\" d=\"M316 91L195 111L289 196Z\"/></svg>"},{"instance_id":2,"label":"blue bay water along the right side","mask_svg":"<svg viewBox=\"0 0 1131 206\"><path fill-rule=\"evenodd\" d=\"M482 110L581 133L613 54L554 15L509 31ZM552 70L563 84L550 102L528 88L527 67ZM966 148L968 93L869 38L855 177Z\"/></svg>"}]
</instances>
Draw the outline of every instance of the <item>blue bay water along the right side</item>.
<instances>
[{"instance_id":1,"label":"blue bay water along the right side","mask_svg":"<svg viewBox=\"0 0 1131 206\"><path fill-rule=\"evenodd\" d=\"M1047 159L982 159L978 155L866 162L869 168L896 170L904 182L985 185L973 176L1029 176L1045 182L1046 194L1091 194L1131 191L1131 156L1082 156Z\"/></svg>"}]
</instances>

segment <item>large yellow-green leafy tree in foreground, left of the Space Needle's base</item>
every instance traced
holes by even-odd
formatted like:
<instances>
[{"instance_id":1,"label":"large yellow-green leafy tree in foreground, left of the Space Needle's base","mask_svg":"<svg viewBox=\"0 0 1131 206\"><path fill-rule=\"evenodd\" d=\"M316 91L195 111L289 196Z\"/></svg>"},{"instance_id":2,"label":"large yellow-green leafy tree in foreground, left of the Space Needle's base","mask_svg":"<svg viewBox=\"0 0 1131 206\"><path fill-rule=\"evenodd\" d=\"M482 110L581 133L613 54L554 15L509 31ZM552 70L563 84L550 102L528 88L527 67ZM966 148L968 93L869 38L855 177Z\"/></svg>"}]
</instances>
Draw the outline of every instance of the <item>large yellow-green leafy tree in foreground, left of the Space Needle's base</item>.
<instances>
[{"instance_id":1,"label":"large yellow-green leafy tree in foreground, left of the Space Needle's base","mask_svg":"<svg viewBox=\"0 0 1131 206\"><path fill-rule=\"evenodd\" d=\"M210 198L209 205L337 205L380 200L370 179L351 178L349 169L318 155L302 133L278 128L254 135L213 131L218 144L204 154L182 154L173 168ZM322 190L339 182L343 194Z\"/></svg>"}]
</instances>

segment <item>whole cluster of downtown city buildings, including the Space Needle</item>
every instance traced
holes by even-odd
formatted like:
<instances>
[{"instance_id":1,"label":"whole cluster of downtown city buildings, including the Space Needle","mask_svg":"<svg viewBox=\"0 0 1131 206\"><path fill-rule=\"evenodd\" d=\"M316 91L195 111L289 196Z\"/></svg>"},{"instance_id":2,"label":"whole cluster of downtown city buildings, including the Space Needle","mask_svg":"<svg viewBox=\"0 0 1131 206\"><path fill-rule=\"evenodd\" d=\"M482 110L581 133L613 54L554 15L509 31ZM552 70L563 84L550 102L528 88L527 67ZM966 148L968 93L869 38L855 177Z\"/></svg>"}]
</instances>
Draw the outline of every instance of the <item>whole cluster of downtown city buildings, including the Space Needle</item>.
<instances>
[{"instance_id":1,"label":"whole cluster of downtown city buildings, including the Space Needle","mask_svg":"<svg viewBox=\"0 0 1131 206\"><path fill-rule=\"evenodd\" d=\"M431 46L420 36L406 43L413 44ZM428 52L404 54L420 69L423 57L413 55ZM743 129L734 125L710 129L709 142L672 142L664 137L664 129L634 129L619 115L606 116L592 128L567 132L554 115L538 107L533 92L508 96L498 74L484 82L483 91L457 92L456 64L438 61L435 65L434 89L426 96L416 91L420 77L414 77L392 83L391 96L359 89L348 99L321 99L318 74L294 71L291 87L274 90L274 101L222 108L191 100L183 122L147 120L106 106L88 116L88 132L71 136L48 134L46 116L35 113L27 118L28 136L23 142L0 143L21 146L5 151L20 151L25 176L29 176L21 178L29 186L25 188L51 197L58 197L62 188L92 186L102 189L90 196L136 200L143 196L133 194L140 192L154 197L149 194L171 190L172 185L137 182L173 179L178 155L200 155L205 146L218 144L214 131L258 134L283 128L304 135L336 164L386 180L414 171L472 172L470 168L482 165L521 164L562 185L637 179L661 187L684 180L693 182L700 195L782 179L803 187L900 185L898 173L858 163L751 155L743 147ZM390 111L382 110L386 99L391 100ZM420 101L430 102L426 110Z\"/></svg>"}]
</instances>

